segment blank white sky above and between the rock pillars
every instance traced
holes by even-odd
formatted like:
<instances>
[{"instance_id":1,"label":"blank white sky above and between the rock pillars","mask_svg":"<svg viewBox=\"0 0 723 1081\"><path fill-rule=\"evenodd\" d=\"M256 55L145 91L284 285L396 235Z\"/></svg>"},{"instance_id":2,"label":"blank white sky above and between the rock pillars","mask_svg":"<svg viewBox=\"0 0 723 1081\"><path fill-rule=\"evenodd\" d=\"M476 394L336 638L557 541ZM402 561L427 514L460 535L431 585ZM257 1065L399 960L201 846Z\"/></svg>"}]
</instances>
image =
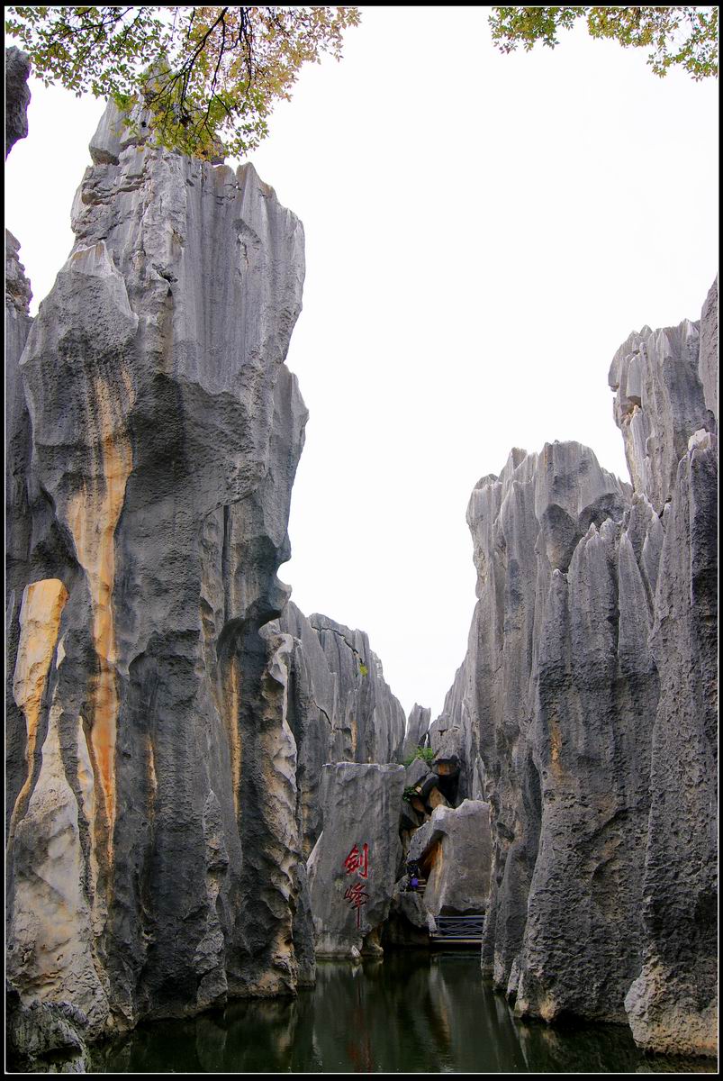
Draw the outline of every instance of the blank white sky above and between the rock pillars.
<instances>
[{"instance_id":1,"label":"blank white sky above and between the rock pillars","mask_svg":"<svg viewBox=\"0 0 723 1081\"><path fill-rule=\"evenodd\" d=\"M35 299L71 246L103 103L31 82L6 225ZM480 8L372 6L252 160L304 222L289 365L310 411L281 577L442 707L467 648L470 492L577 439L627 478L607 369L698 319L718 265L718 86L584 28L503 56Z\"/></svg>"}]
</instances>

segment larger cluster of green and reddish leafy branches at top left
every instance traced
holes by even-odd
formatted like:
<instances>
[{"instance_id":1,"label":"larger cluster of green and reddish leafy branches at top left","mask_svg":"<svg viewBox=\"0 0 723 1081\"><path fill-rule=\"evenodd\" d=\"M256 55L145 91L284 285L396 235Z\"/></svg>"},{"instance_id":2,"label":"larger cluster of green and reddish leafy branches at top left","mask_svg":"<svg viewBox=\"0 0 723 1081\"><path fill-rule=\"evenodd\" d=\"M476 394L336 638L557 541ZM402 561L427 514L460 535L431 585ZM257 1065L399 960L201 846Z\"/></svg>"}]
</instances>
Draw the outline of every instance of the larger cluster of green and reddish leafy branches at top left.
<instances>
[{"instance_id":1,"label":"larger cluster of green and reddish leafy branches at top left","mask_svg":"<svg viewBox=\"0 0 723 1081\"><path fill-rule=\"evenodd\" d=\"M142 103L156 141L236 157L268 135L303 64L342 58L358 8L6 8L34 75L80 96Z\"/></svg>"}]
</instances>

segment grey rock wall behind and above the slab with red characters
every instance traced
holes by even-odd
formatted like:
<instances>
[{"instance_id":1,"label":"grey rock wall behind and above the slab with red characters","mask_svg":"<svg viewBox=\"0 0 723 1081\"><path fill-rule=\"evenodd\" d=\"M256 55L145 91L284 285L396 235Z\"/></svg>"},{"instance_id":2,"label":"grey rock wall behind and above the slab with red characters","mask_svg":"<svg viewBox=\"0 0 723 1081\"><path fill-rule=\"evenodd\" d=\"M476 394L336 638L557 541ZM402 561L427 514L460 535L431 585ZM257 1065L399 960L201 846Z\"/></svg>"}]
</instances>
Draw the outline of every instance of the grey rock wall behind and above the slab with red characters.
<instances>
[{"instance_id":1,"label":"grey rock wall behind and above the slab with red characters","mask_svg":"<svg viewBox=\"0 0 723 1081\"><path fill-rule=\"evenodd\" d=\"M298 748L299 815L308 856L324 828L319 791L323 765L396 762L404 710L363 631L323 615L307 618L291 601L278 626L294 639L287 717Z\"/></svg>"}]
</instances>

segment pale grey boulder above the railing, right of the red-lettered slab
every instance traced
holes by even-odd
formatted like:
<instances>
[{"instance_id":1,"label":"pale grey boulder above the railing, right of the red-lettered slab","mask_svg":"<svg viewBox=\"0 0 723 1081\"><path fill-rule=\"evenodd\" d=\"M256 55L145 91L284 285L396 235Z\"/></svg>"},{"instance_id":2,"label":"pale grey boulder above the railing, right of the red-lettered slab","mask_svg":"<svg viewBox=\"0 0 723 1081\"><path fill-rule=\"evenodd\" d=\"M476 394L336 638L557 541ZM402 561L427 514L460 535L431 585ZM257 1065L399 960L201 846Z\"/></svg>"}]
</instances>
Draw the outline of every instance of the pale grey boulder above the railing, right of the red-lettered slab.
<instances>
[{"instance_id":1,"label":"pale grey boulder above the railing, right of the red-lettered slab","mask_svg":"<svg viewBox=\"0 0 723 1081\"><path fill-rule=\"evenodd\" d=\"M427 880L424 907L432 916L483 912L492 863L490 805L463 800L458 808L436 808L414 833L406 858Z\"/></svg>"}]
</instances>

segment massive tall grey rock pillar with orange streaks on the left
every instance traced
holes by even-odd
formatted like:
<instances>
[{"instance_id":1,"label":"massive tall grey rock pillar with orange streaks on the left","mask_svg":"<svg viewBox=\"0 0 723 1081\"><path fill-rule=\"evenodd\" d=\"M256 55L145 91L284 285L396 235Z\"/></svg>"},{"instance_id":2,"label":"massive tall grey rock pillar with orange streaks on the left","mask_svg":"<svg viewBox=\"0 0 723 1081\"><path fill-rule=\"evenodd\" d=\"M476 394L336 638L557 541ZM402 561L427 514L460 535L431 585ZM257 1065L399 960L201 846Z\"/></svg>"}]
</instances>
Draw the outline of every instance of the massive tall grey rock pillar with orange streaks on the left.
<instances>
[{"instance_id":1,"label":"massive tall grey rock pillar with orange streaks on the left","mask_svg":"<svg viewBox=\"0 0 723 1081\"><path fill-rule=\"evenodd\" d=\"M259 629L304 233L251 165L133 144L72 222L9 356L8 975L95 1037L297 985L293 642Z\"/></svg>"}]
</instances>

